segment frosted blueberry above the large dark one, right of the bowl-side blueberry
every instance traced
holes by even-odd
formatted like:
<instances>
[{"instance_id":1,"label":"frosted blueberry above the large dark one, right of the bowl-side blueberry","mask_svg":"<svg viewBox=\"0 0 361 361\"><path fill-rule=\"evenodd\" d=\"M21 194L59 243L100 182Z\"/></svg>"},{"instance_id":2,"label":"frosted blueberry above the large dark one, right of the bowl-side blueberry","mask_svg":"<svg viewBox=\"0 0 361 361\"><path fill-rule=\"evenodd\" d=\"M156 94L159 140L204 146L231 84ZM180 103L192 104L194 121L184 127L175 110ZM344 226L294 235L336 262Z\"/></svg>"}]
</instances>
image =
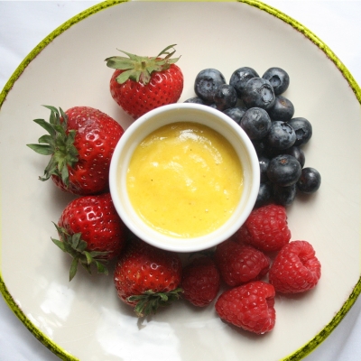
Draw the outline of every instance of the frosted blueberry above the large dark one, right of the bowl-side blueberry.
<instances>
[{"instance_id":1,"label":"frosted blueberry above the large dark one, right of the bowl-side blueberry","mask_svg":"<svg viewBox=\"0 0 361 361\"><path fill-rule=\"evenodd\" d=\"M267 143L276 149L290 148L296 142L296 133L286 122L273 121L267 134Z\"/></svg>"}]
</instances>

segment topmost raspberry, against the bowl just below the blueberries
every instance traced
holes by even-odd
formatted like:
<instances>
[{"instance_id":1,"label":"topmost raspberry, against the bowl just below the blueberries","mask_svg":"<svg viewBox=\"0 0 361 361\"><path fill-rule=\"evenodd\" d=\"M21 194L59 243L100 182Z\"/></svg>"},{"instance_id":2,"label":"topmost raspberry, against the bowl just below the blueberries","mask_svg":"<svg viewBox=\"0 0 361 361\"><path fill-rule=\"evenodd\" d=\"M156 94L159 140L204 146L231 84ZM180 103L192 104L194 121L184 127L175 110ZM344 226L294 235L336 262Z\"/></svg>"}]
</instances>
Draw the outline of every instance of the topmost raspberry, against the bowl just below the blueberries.
<instances>
[{"instance_id":1,"label":"topmost raspberry, against the bowl just below the blueberries","mask_svg":"<svg viewBox=\"0 0 361 361\"><path fill-rule=\"evenodd\" d=\"M290 242L286 209L269 204L256 208L237 233L239 243L253 245L263 252L279 251Z\"/></svg>"}]
</instances>

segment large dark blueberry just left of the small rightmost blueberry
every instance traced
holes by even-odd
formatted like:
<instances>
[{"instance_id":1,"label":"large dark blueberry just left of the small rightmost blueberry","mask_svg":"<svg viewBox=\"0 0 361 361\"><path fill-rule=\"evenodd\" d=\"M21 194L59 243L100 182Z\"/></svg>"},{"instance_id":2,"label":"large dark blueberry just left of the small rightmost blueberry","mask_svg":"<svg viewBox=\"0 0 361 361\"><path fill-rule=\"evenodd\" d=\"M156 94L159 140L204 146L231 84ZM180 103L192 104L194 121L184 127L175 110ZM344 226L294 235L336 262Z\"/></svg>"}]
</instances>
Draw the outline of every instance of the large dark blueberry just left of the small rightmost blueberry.
<instances>
[{"instance_id":1,"label":"large dark blueberry just left of the small rightmost blueberry","mask_svg":"<svg viewBox=\"0 0 361 361\"><path fill-rule=\"evenodd\" d=\"M276 185L292 186L301 177L300 162L289 154L277 155L268 165L267 176Z\"/></svg>"}]
</instances>

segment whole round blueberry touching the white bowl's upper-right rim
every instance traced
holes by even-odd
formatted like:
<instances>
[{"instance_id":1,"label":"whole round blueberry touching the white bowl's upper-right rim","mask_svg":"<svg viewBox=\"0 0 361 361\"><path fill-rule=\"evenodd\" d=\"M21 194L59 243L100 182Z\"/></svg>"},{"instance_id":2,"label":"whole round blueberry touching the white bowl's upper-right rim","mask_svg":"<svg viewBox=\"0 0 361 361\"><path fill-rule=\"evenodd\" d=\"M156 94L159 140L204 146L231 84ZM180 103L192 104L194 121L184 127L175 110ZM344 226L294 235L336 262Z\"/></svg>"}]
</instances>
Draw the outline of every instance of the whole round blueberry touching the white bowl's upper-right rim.
<instances>
[{"instance_id":1,"label":"whole round blueberry touching the white bowl's upper-right rim","mask_svg":"<svg viewBox=\"0 0 361 361\"><path fill-rule=\"evenodd\" d=\"M245 112L240 125L251 140L262 139L271 128L271 118L261 107L251 107Z\"/></svg>"}]
</instances>

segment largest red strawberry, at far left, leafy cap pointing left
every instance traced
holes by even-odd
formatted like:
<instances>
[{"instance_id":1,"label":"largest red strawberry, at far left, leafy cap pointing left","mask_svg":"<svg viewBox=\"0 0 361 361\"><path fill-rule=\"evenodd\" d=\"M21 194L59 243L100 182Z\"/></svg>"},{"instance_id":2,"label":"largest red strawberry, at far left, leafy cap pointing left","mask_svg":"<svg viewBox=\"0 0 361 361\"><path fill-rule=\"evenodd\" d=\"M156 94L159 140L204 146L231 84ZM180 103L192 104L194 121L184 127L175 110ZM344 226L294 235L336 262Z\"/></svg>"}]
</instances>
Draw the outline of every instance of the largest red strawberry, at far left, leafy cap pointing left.
<instances>
[{"instance_id":1,"label":"largest red strawberry, at far left, leafy cap pointing left","mask_svg":"<svg viewBox=\"0 0 361 361\"><path fill-rule=\"evenodd\" d=\"M61 189L85 196L108 190L110 160L124 133L116 120L89 106L76 106L65 113L53 106L50 122L35 119L49 134L32 150L51 155L41 180L51 178Z\"/></svg>"}]
</instances>

